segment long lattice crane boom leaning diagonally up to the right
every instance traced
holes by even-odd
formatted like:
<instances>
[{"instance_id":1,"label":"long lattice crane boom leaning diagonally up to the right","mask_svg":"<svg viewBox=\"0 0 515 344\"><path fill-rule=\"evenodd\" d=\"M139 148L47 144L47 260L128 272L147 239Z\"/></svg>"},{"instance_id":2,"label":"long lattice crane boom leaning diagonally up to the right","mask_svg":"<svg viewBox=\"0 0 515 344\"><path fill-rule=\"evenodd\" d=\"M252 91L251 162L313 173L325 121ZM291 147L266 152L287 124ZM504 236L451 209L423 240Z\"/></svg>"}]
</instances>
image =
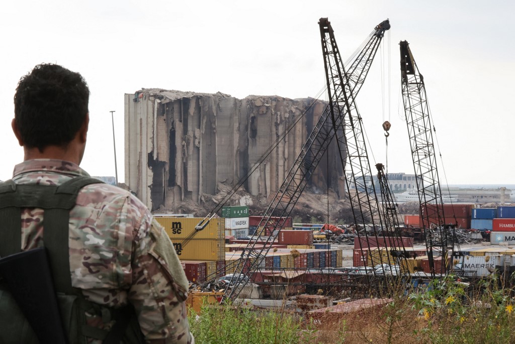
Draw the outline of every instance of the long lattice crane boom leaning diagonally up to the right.
<instances>
[{"instance_id":1,"label":"long lattice crane boom leaning diagonally up to the right","mask_svg":"<svg viewBox=\"0 0 515 344\"><path fill-rule=\"evenodd\" d=\"M321 21L322 20L323 19L321 19ZM327 19L325 19L325 21L327 21ZM319 25L321 26L322 24L319 23ZM345 74L348 90L353 93L353 96L361 89L375 53L380 46L383 33L389 28L388 20L383 21L374 28L373 32L369 35L369 40L365 47L358 53L348 73ZM344 112L345 111L346 110L344 110ZM236 297L241 291L241 288L245 286L248 281L248 279L237 278L237 276L249 276L251 271L254 271L261 264L272 243L276 240L278 235L277 229L280 228L280 224L278 222L272 222L271 218L274 216L279 216L280 218L289 216L306 187L308 180L310 180L318 166L323 154L327 152L333 138L337 136L339 137L338 140L341 141L341 137L344 136L343 123L341 121L336 123L332 120L333 117L331 106L328 106L310 136L307 138L293 167L289 170L284 182L265 211L263 219L258 226L258 228L262 228L263 230L258 232L258 238L255 241L249 241L247 247L244 249L242 258L238 261L235 268L235 274L233 275L234 281L231 280L231 283L234 283L234 287L227 291L228 297ZM345 160L345 144L338 144L338 149L340 156ZM342 164L344 164L344 161L342 161ZM345 168L343 170L345 171ZM272 230L271 233L267 234L265 228L268 226L272 227Z\"/></svg>"}]
</instances>

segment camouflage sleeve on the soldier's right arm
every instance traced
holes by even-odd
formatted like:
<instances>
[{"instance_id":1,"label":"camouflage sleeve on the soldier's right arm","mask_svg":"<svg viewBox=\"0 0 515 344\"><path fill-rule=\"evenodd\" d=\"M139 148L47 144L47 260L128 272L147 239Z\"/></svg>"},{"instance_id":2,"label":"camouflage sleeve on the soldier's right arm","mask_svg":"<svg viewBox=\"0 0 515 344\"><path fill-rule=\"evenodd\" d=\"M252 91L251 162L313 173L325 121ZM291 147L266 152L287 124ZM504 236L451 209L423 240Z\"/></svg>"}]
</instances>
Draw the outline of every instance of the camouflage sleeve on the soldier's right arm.
<instances>
[{"instance_id":1,"label":"camouflage sleeve on the soldier's right arm","mask_svg":"<svg viewBox=\"0 0 515 344\"><path fill-rule=\"evenodd\" d=\"M188 282L174 246L147 210L133 244L129 301L150 343L194 344L185 300Z\"/></svg>"}]
</instances>

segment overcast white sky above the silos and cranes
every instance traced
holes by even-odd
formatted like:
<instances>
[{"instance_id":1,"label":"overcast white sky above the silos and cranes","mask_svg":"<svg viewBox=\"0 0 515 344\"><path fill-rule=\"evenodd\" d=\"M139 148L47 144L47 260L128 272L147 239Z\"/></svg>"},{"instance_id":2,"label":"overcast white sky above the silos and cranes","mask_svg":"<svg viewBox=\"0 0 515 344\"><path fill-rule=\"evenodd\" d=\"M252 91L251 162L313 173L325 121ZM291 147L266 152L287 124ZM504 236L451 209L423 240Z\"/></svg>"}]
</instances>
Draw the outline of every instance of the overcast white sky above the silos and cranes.
<instances>
[{"instance_id":1,"label":"overcast white sky above the silos and cranes","mask_svg":"<svg viewBox=\"0 0 515 344\"><path fill-rule=\"evenodd\" d=\"M375 162L386 162L381 124L392 124L388 170L413 173L400 94L399 41L424 76L449 184L515 184L515 2L512 1L13 1L0 13L0 179L23 150L11 132L20 77L42 62L78 71L90 90L81 166L124 180L124 94L141 87L314 97L325 84L318 19L329 17L347 60L373 27L390 33L356 98ZM388 45L389 44L389 45ZM384 63L382 63L382 57ZM388 57L391 62L388 65ZM381 74L389 83L382 103ZM443 171L444 170L444 171Z\"/></svg>"}]
</instances>

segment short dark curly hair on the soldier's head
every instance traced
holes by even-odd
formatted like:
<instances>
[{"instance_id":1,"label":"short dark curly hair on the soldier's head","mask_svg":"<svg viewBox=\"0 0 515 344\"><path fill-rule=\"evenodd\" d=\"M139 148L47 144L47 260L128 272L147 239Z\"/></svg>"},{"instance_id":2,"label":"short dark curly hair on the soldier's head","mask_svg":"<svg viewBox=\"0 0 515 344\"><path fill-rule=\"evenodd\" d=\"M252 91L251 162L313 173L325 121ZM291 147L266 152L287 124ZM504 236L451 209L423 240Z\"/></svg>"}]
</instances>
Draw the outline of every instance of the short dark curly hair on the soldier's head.
<instances>
[{"instance_id":1,"label":"short dark curly hair on the soldier's head","mask_svg":"<svg viewBox=\"0 0 515 344\"><path fill-rule=\"evenodd\" d=\"M57 64L40 64L23 76L14 94L14 120L24 146L65 147L88 114L84 78Z\"/></svg>"}]
</instances>

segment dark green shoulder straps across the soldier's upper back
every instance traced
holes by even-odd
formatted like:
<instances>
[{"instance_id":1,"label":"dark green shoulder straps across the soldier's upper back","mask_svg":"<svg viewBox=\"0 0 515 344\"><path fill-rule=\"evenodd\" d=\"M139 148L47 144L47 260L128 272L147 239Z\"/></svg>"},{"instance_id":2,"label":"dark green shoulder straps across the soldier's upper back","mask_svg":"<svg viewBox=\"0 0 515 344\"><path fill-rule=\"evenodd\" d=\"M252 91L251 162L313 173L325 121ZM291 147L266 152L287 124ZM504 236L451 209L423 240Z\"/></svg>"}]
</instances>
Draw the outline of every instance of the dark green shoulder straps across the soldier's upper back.
<instances>
[{"instance_id":1,"label":"dark green shoulder straps across the soldier's upper back","mask_svg":"<svg viewBox=\"0 0 515 344\"><path fill-rule=\"evenodd\" d=\"M0 224L5 238L0 241L0 255L6 257L20 251L21 209L44 209L44 243L56 291L73 294L68 247L70 210L80 189L96 183L102 182L79 176L59 186L16 185L12 180L0 185Z\"/></svg>"}]
</instances>

